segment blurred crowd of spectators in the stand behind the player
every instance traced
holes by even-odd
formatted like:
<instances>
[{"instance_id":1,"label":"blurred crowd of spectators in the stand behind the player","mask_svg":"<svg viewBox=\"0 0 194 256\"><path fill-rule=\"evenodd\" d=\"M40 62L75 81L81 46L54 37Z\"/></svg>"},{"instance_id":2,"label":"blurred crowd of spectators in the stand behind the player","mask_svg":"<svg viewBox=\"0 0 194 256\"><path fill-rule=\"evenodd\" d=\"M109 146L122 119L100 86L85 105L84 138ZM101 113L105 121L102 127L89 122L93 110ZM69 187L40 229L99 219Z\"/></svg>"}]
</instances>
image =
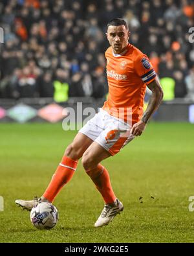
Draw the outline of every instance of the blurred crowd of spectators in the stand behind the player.
<instances>
[{"instance_id":1,"label":"blurred crowd of spectators in the stand behind the player","mask_svg":"<svg viewBox=\"0 0 194 256\"><path fill-rule=\"evenodd\" d=\"M194 99L189 0L1 0L0 97L103 97L105 32L113 17L129 24L129 42L149 56L162 86L171 88L167 99Z\"/></svg>"}]
</instances>

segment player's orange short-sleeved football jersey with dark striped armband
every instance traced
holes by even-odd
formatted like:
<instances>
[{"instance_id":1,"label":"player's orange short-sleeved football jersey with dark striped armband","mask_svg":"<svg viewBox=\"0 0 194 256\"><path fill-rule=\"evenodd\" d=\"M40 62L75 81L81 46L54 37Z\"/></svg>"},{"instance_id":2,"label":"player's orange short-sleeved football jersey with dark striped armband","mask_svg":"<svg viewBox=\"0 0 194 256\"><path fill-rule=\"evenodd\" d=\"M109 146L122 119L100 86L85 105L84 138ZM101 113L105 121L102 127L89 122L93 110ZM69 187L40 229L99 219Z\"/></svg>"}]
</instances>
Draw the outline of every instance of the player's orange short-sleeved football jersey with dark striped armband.
<instances>
[{"instance_id":1,"label":"player's orange short-sleeved football jersey with dark striped armband","mask_svg":"<svg viewBox=\"0 0 194 256\"><path fill-rule=\"evenodd\" d=\"M103 110L134 124L143 114L146 85L156 77L153 66L146 54L130 43L122 54L114 54L112 47L109 47L105 58L109 96ZM129 112L132 114L130 120Z\"/></svg>"}]
</instances>

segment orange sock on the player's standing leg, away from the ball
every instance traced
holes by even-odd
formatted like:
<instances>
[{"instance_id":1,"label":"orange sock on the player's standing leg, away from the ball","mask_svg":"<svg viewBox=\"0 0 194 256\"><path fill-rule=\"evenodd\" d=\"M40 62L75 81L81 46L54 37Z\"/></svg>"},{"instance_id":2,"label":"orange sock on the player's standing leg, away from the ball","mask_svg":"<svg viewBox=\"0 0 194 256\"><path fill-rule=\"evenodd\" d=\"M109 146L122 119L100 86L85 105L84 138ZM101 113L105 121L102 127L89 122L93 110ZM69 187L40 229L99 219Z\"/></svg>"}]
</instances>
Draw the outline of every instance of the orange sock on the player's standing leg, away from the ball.
<instances>
[{"instance_id":1,"label":"orange sock on the player's standing leg, away from the ball","mask_svg":"<svg viewBox=\"0 0 194 256\"><path fill-rule=\"evenodd\" d=\"M97 169L99 170L99 176L92 179L92 181L96 185L96 189L98 189L100 194L102 194L105 204L113 204L113 202L116 200L116 196L111 186L109 172L100 164L98 164ZM92 172L92 170L89 172Z\"/></svg>"}]
</instances>

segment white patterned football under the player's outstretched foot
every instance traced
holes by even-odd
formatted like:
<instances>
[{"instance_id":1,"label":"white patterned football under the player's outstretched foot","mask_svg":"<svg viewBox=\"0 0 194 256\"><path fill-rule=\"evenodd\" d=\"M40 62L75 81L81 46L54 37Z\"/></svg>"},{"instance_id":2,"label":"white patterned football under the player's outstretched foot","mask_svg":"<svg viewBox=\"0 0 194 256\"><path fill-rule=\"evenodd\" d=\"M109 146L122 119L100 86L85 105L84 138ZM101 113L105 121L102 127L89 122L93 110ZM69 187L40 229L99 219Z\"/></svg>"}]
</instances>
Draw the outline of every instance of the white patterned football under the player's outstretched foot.
<instances>
[{"instance_id":1,"label":"white patterned football under the player's outstretched foot","mask_svg":"<svg viewBox=\"0 0 194 256\"><path fill-rule=\"evenodd\" d=\"M38 229L51 229L58 222L58 210L52 204L42 202L30 211L30 220Z\"/></svg>"}]
</instances>

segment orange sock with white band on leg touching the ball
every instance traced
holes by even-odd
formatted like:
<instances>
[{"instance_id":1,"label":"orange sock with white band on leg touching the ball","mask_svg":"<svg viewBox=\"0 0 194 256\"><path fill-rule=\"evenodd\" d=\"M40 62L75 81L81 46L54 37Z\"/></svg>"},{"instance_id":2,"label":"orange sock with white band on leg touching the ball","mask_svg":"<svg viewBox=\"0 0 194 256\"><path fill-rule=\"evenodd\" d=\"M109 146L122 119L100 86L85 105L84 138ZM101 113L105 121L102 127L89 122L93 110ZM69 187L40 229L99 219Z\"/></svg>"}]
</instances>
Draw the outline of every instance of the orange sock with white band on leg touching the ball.
<instances>
[{"instance_id":1,"label":"orange sock with white band on leg touching the ball","mask_svg":"<svg viewBox=\"0 0 194 256\"><path fill-rule=\"evenodd\" d=\"M67 156L63 156L58 169L56 169L56 172L52 176L52 180L43 194L48 201L52 202L62 187L70 181L74 175L77 165L78 161L74 161Z\"/></svg>"}]
</instances>

